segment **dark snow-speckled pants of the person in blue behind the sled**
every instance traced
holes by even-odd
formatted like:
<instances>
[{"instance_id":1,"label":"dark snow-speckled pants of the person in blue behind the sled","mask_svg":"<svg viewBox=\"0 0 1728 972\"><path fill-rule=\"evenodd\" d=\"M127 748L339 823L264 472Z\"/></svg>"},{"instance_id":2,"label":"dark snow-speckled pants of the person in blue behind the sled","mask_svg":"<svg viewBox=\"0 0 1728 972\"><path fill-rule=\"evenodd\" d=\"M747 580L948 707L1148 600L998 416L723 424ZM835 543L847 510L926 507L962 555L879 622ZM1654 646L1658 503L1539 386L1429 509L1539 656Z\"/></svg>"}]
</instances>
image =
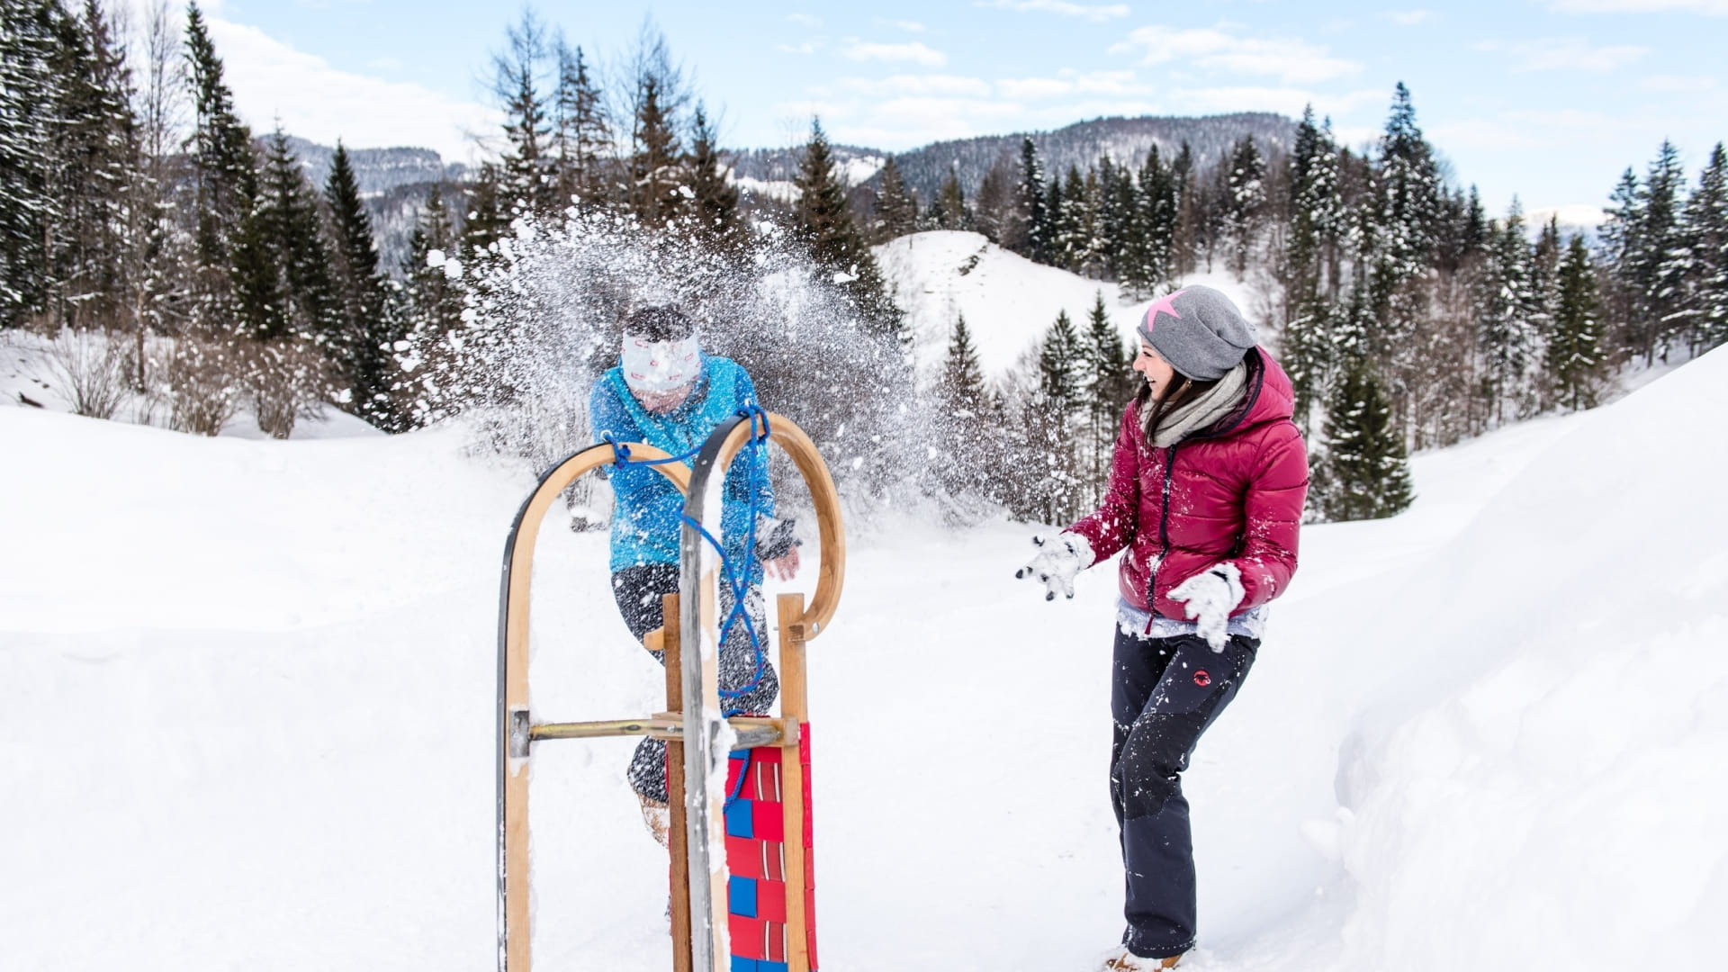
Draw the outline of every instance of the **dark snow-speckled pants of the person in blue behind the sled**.
<instances>
[{"instance_id":1,"label":"dark snow-speckled pants of the person in blue behind the sled","mask_svg":"<svg viewBox=\"0 0 1728 972\"><path fill-rule=\"evenodd\" d=\"M677 593L677 564L639 564L624 567L612 574L612 595L619 600L619 614L629 624L631 635L641 642L643 635L662 624L662 597ZM724 619L733 609L733 592L721 585L719 611ZM750 649L750 631L743 621L733 624L731 635L721 645L721 692L743 692L734 697L721 697L721 707L740 714L766 716L774 697L779 695L779 678L769 662L767 616L762 611L762 588L753 586L745 595L745 609L750 623L755 624L757 642L762 645L762 673L757 678L757 654ZM655 654L660 664L665 659ZM665 742L645 739L636 745L629 768L631 789L641 797L665 803Z\"/></svg>"}]
</instances>

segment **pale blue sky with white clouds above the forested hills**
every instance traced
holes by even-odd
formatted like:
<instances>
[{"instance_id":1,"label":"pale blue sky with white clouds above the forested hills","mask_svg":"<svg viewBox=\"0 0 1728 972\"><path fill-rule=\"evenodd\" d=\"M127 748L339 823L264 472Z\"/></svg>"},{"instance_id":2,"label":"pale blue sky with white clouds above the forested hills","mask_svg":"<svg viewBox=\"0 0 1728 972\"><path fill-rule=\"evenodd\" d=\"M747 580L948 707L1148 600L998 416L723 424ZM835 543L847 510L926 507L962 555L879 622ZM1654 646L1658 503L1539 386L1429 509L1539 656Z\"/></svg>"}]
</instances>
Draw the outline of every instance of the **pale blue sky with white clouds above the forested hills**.
<instances>
[{"instance_id":1,"label":"pale blue sky with white clouds above the forested hills","mask_svg":"<svg viewBox=\"0 0 1728 972\"><path fill-rule=\"evenodd\" d=\"M147 0L131 0L143 3ZM534 9L603 64L646 17L738 147L1056 128L1101 114L1312 102L1351 144L1393 85L1460 183L1496 211L1598 206L1664 137L1688 178L1728 138L1728 0L1296 3L930 0L596 3ZM448 157L489 133L487 57L522 7L441 0L206 0L240 111L257 126Z\"/></svg>"}]
</instances>

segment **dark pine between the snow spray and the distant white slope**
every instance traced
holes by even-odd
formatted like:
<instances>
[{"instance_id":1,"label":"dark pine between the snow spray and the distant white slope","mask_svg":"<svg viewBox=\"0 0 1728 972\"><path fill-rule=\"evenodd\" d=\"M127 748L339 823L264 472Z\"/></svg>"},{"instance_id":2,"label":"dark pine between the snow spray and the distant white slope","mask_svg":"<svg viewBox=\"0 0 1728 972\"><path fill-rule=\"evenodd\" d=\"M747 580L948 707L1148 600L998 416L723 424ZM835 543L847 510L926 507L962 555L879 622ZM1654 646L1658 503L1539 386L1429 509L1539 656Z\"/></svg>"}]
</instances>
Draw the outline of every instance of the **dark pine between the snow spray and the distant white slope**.
<instances>
[{"instance_id":1,"label":"dark pine between the snow spray and the distant white slope","mask_svg":"<svg viewBox=\"0 0 1728 972\"><path fill-rule=\"evenodd\" d=\"M895 346L904 344L900 308L888 297L876 258L852 221L847 190L835 178L835 156L819 119L810 121L810 140L804 147L795 185L798 235L816 266L845 287L867 330Z\"/></svg>"}]
</instances>

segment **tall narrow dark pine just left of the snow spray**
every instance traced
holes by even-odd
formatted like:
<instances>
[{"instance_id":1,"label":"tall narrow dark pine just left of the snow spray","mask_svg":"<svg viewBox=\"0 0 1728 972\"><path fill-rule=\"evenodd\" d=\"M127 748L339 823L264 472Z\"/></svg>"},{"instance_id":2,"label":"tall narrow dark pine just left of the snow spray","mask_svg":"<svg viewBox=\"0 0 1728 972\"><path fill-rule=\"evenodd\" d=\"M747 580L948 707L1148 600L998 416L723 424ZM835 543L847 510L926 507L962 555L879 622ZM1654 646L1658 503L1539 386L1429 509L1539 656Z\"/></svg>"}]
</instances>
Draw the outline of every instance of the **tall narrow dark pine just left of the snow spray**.
<instances>
[{"instance_id":1,"label":"tall narrow dark pine just left of the snow spray","mask_svg":"<svg viewBox=\"0 0 1728 972\"><path fill-rule=\"evenodd\" d=\"M332 358L342 365L349 412L373 425L397 432L403 422L391 400L394 348L403 339L401 322L387 313L387 282L378 272L378 247L372 216L359 199L359 183L347 149L335 144L330 178L325 182L330 209L332 275L337 325L330 339Z\"/></svg>"}]
</instances>

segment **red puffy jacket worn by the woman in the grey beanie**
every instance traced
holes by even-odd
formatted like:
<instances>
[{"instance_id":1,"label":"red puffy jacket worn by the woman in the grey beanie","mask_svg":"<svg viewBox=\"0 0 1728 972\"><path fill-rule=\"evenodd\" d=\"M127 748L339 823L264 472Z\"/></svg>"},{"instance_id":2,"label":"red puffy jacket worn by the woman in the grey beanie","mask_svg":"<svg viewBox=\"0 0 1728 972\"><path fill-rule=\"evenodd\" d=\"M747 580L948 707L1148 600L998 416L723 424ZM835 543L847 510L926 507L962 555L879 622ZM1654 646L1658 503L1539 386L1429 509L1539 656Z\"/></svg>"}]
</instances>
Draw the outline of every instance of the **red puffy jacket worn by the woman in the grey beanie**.
<instances>
[{"instance_id":1,"label":"red puffy jacket worn by the woman in the grey beanie","mask_svg":"<svg viewBox=\"0 0 1728 972\"><path fill-rule=\"evenodd\" d=\"M1185 621L1170 588L1222 560L1242 572L1242 604L1232 614L1284 593L1296 572L1308 453L1291 422L1291 379L1261 348L1246 361L1242 405L1173 446L1149 446L1130 403L1104 502L1068 528L1092 543L1097 560L1130 548L1121 597L1142 611Z\"/></svg>"}]
</instances>

